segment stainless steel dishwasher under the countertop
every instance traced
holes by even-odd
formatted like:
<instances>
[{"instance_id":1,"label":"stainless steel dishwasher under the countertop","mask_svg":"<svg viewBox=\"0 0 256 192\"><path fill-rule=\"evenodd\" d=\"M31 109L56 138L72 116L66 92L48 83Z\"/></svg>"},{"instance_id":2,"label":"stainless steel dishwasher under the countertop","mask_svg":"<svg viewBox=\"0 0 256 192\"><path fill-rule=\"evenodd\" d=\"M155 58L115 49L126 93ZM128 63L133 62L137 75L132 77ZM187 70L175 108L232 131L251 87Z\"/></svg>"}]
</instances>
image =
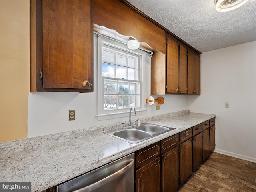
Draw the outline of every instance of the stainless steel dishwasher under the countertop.
<instances>
[{"instance_id":1,"label":"stainless steel dishwasher under the countertop","mask_svg":"<svg viewBox=\"0 0 256 192\"><path fill-rule=\"evenodd\" d=\"M57 192L134 192L134 153L58 185Z\"/></svg>"}]
</instances>

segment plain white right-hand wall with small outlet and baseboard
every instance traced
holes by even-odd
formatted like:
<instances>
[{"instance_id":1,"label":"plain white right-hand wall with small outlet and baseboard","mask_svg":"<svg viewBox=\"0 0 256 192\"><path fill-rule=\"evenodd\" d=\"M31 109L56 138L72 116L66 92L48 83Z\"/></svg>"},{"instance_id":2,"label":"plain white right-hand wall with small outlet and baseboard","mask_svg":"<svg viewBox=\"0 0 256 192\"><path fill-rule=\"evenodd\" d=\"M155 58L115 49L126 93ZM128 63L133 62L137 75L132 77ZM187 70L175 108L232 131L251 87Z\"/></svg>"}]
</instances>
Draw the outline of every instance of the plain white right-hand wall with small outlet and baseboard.
<instances>
[{"instance_id":1,"label":"plain white right-hand wall with small outlet and baseboard","mask_svg":"<svg viewBox=\"0 0 256 192\"><path fill-rule=\"evenodd\" d=\"M216 152L256 162L256 41L201 55L201 95L190 112L216 114ZM225 102L230 107L225 108Z\"/></svg>"}]
</instances>

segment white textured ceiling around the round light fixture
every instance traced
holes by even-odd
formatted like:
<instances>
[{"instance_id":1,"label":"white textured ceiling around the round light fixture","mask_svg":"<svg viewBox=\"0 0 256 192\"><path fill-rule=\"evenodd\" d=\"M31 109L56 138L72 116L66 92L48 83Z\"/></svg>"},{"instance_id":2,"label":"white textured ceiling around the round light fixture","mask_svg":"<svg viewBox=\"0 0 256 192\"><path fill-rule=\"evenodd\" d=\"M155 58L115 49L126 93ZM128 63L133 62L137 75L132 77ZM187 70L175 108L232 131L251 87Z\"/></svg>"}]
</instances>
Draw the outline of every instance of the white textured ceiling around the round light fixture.
<instances>
[{"instance_id":1,"label":"white textured ceiling around the round light fixture","mask_svg":"<svg viewBox=\"0 0 256 192\"><path fill-rule=\"evenodd\" d=\"M200 52L256 40L256 0L229 12L214 0L127 1Z\"/></svg>"}]
</instances>

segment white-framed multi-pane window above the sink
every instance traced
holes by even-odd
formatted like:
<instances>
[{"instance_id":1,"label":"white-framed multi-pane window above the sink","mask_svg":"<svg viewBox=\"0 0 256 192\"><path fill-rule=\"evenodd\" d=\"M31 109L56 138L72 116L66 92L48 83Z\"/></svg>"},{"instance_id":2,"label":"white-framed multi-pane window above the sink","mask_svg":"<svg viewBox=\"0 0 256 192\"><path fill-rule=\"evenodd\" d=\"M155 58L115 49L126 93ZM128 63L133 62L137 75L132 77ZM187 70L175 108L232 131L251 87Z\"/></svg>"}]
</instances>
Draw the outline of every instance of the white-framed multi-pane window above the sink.
<instances>
[{"instance_id":1,"label":"white-framed multi-pane window above the sink","mask_svg":"<svg viewBox=\"0 0 256 192\"><path fill-rule=\"evenodd\" d=\"M136 112L145 111L145 63L145 51L129 50L126 44L98 37L99 120L124 116L132 106Z\"/></svg>"}]
</instances>

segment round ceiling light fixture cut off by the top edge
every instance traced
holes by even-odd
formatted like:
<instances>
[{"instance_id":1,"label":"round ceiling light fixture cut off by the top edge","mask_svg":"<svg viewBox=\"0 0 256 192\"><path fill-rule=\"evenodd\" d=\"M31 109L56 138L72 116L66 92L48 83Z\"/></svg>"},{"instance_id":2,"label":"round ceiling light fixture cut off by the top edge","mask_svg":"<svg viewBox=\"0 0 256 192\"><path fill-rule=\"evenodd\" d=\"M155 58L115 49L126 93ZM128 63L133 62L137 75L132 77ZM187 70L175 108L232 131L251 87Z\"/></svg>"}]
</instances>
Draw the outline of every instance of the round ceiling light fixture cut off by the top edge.
<instances>
[{"instance_id":1,"label":"round ceiling light fixture cut off by the top edge","mask_svg":"<svg viewBox=\"0 0 256 192\"><path fill-rule=\"evenodd\" d=\"M219 12L234 10L244 5L248 0L215 0L215 9Z\"/></svg>"}]
</instances>

